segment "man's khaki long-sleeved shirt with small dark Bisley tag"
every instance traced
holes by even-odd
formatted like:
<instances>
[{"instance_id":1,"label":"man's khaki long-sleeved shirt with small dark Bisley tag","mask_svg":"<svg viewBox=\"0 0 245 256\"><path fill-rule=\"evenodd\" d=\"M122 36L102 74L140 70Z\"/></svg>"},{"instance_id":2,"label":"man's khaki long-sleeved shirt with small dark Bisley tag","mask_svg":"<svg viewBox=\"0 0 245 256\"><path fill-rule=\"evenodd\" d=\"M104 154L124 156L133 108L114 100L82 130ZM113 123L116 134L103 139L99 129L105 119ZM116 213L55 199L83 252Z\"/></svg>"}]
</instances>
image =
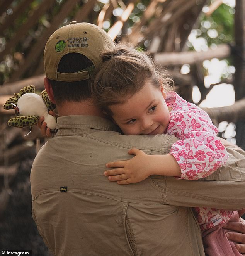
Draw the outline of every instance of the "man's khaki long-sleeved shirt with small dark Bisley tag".
<instances>
[{"instance_id":1,"label":"man's khaki long-sleeved shirt with small dark Bisley tag","mask_svg":"<svg viewBox=\"0 0 245 256\"><path fill-rule=\"evenodd\" d=\"M105 163L131 158L133 147L167 154L177 139L121 135L95 116L60 117L56 128L31 170L32 215L54 255L204 256L189 207L245 208L242 150L227 149L228 168L205 180L153 175L118 185L104 176Z\"/></svg>"}]
</instances>

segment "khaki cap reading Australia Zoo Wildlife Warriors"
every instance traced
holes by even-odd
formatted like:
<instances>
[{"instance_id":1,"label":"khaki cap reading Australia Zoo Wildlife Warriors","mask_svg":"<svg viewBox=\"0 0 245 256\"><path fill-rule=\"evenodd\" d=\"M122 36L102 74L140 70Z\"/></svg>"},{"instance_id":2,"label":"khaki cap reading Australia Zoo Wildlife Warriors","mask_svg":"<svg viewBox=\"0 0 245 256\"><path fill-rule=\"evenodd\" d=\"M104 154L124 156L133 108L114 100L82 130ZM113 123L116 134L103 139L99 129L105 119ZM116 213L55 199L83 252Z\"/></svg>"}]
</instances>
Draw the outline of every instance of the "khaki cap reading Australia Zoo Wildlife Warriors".
<instances>
[{"instance_id":1,"label":"khaki cap reading Australia Zoo Wildlife Warriors","mask_svg":"<svg viewBox=\"0 0 245 256\"><path fill-rule=\"evenodd\" d=\"M71 21L69 25L57 29L48 39L44 49L44 70L46 76L56 81L81 81L89 78L101 65L100 54L114 47L109 35L90 23ZM75 73L57 71L60 59L68 53L85 55L94 65Z\"/></svg>"}]
</instances>

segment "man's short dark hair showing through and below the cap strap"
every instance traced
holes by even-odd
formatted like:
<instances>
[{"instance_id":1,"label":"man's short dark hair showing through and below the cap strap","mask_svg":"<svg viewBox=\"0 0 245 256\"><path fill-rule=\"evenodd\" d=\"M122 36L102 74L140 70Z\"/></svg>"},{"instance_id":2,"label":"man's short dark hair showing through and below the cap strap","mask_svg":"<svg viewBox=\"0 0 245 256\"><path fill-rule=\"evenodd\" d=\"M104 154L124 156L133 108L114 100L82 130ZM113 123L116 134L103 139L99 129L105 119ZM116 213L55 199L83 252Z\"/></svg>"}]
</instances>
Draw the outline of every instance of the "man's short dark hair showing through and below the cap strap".
<instances>
[{"instance_id":1,"label":"man's short dark hair showing through and below the cap strap","mask_svg":"<svg viewBox=\"0 0 245 256\"><path fill-rule=\"evenodd\" d=\"M69 53L64 55L58 65L58 72L74 73L90 67L93 63L83 54ZM54 93L57 105L63 102L81 102L91 98L90 80L63 82L48 79Z\"/></svg>"}]
</instances>

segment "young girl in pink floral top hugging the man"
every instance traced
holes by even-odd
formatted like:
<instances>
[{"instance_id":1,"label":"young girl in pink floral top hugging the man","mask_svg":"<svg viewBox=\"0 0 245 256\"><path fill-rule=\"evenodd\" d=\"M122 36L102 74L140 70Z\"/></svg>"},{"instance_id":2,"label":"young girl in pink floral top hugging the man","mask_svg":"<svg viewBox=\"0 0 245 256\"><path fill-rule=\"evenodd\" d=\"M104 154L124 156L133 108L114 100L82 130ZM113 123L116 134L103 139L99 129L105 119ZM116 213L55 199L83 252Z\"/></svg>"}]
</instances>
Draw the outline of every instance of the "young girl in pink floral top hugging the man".
<instances>
[{"instance_id":1,"label":"young girl in pink floral top hugging the man","mask_svg":"<svg viewBox=\"0 0 245 256\"><path fill-rule=\"evenodd\" d=\"M154 174L197 180L225 164L228 154L216 137L218 129L208 114L177 93L168 91L170 80L155 70L144 52L119 44L101 56L103 65L95 76L92 93L95 102L122 133L166 133L179 138L167 155L147 155L131 149L129 154L135 155L132 159L107 163L107 168L116 168L105 171L109 180L129 184ZM224 255L240 255L235 246L231 248L220 228L231 218L232 211L201 207L195 210L203 234L219 229L220 241L204 240L207 255L223 255L224 250Z\"/></svg>"}]
</instances>

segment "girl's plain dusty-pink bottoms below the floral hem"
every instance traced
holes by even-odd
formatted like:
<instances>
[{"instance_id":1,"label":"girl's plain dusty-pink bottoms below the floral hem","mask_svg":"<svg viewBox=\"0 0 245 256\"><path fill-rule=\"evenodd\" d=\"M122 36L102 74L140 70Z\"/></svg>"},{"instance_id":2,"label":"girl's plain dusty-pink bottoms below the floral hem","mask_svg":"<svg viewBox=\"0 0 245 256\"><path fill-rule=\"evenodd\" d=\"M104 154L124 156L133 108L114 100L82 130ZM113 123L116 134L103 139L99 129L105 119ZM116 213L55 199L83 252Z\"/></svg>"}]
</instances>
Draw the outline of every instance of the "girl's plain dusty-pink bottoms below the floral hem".
<instances>
[{"instance_id":1,"label":"girl's plain dusty-pink bottoms below the floral hem","mask_svg":"<svg viewBox=\"0 0 245 256\"><path fill-rule=\"evenodd\" d=\"M239 221L237 211L234 211L229 221ZM224 225L224 224L223 224ZM235 243L227 239L223 225L215 226L202 232L202 240L206 256L241 256ZM229 232L232 232L229 230Z\"/></svg>"}]
</instances>

